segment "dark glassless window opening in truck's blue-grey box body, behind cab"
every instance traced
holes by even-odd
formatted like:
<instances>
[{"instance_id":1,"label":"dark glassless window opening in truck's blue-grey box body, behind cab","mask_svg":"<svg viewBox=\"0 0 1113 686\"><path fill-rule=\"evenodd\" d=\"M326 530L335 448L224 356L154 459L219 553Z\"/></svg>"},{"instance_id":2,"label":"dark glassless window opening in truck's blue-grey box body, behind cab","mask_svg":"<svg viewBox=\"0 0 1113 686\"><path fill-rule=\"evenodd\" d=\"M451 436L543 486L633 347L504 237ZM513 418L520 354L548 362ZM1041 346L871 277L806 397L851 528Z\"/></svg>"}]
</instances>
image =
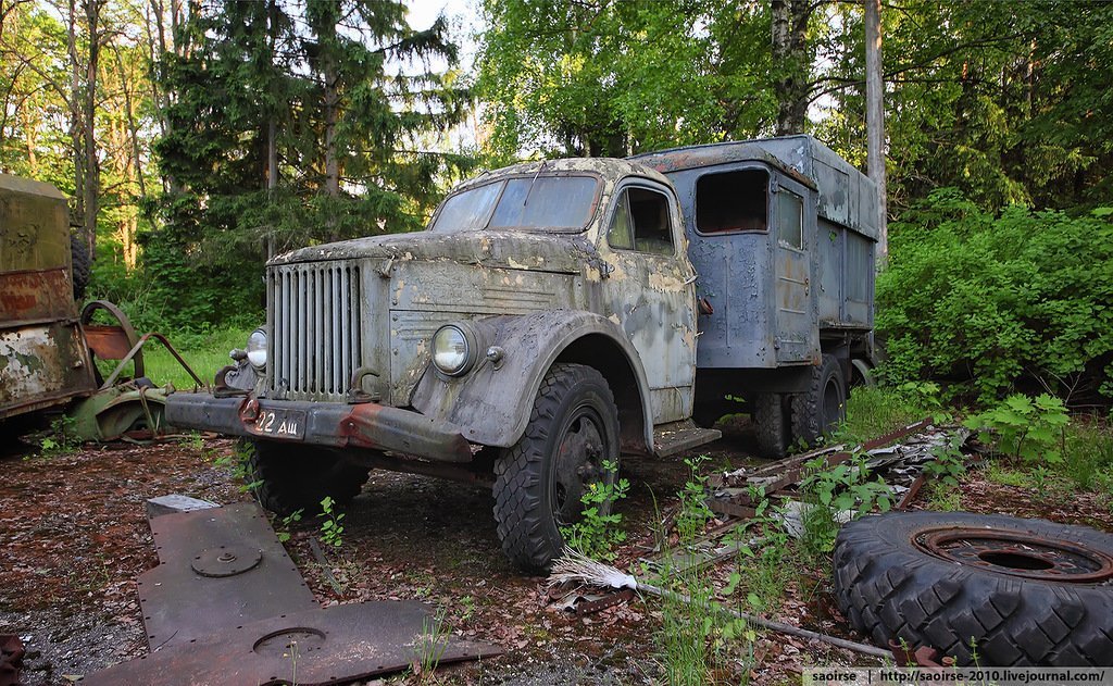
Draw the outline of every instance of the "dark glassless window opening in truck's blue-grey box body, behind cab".
<instances>
[{"instance_id":1,"label":"dark glassless window opening in truck's blue-grey box body, behind cab","mask_svg":"<svg viewBox=\"0 0 1113 686\"><path fill-rule=\"evenodd\" d=\"M696 182L696 231L766 231L768 196L769 173L765 169L705 174Z\"/></svg>"}]
</instances>

